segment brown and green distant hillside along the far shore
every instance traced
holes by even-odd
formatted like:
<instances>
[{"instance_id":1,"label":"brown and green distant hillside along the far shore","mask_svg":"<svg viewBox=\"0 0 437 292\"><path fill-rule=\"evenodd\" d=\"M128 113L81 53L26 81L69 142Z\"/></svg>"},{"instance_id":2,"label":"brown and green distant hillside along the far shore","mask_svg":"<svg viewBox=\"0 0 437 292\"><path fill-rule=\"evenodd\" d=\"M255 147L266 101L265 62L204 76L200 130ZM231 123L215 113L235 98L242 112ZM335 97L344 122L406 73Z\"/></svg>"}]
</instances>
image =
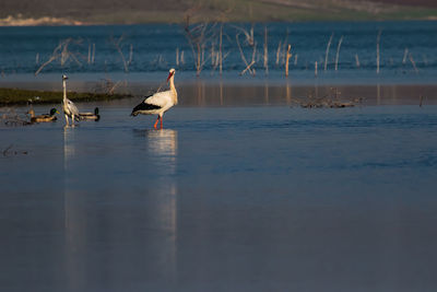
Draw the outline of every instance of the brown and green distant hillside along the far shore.
<instances>
[{"instance_id":1,"label":"brown and green distant hillside along the far shore","mask_svg":"<svg viewBox=\"0 0 437 292\"><path fill-rule=\"evenodd\" d=\"M1 0L0 2L0 25L174 23L184 21L187 14L193 21L424 20L437 19L437 1Z\"/></svg>"}]
</instances>

